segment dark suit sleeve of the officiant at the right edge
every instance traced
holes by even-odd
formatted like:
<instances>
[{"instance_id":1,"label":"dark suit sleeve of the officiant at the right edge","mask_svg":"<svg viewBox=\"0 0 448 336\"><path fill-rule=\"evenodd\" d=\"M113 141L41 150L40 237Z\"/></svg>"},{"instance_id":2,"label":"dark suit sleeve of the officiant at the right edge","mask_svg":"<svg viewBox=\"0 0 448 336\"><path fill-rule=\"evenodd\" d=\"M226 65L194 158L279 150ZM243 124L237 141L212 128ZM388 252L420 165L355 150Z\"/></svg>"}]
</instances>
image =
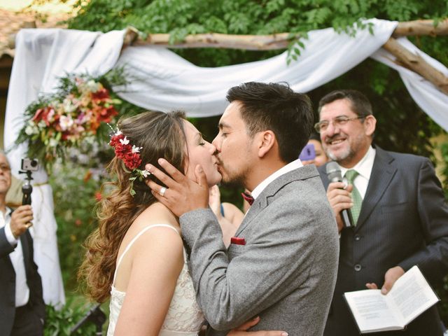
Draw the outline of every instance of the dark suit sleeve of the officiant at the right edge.
<instances>
[{"instance_id":1,"label":"dark suit sleeve of the officiant at the right edge","mask_svg":"<svg viewBox=\"0 0 448 336\"><path fill-rule=\"evenodd\" d=\"M421 162L416 197L426 246L402 260L400 266L407 271L418 265L430 282L438 283L448 273L448 207L428 159Z\"/></svg>"}]
</instances>

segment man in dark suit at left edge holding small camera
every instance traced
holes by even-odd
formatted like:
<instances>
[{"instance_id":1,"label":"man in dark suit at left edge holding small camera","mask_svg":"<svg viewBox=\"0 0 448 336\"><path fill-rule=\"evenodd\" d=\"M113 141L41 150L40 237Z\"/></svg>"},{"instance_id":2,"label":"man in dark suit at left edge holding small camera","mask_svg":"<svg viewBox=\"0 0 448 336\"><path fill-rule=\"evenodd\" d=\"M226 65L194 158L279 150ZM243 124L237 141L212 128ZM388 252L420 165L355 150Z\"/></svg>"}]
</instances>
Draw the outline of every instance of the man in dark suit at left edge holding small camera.
<instances>
[{"instance_id":1,"label":"man in dark suit at left edge holding small camera","mask_svg":"<svg viewBox=\"0 0 448 336\"><path fill-rule=\"evenodd\" d=\"M1 335L43 335L45 304L41 276L33 260L33 241L28 228L31 206L12 211L6 207L10 166L0 153L0 328Z\"/></svg>"}]
</instances>

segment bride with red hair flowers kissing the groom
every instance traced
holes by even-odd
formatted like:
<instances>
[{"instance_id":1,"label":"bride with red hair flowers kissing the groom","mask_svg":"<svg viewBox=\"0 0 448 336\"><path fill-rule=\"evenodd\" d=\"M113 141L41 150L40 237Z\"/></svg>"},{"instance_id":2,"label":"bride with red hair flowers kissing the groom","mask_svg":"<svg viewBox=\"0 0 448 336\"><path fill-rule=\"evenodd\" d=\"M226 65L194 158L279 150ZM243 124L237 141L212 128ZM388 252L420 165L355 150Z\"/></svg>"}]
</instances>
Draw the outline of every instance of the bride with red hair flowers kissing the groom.
<instances>
[{"instance_id":1,"label":"bride with red hair flowers kissing the groom","mask_svg":"<svg viewBox=\"0 0 448 336\"><path fill-rule=\"evenodd\" d=\"M160 168L157 159L165 158L195 179L201 165L214 186L221 181L216 148L181 112L149 111L120 120L110 144L116 156L108 171L115 179L104 186L109 195L99 204L99 228L85 242L80 267L87 295L98 302L111 297L108 336L195 336L204 316L188 273L179 218L151 194L144 179L153 176L141 169L146 163ZM228 335L284 335L244 331L258 321L255 317Z\"/></svg>"}]
</instances>

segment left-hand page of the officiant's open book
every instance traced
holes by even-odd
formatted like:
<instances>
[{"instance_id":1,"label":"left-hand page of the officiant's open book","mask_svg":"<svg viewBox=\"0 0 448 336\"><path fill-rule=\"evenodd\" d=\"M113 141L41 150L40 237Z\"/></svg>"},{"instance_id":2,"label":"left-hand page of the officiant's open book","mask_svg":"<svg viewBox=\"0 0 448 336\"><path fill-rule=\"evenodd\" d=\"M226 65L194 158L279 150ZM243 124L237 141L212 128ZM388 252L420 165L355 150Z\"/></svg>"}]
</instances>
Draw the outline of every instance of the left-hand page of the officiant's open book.
<instances>
[{"instance_id":1,"label":"left-hand page of the officiant's open book","mask_svg":"<svg viewBox=\"0 0 448 336\"><path fill-rule=\"evenodd\" d=\"M361 332L402 329L403 325L395 317L381 290L358 290L344 295Z\"/></svg>"}]
</instances>

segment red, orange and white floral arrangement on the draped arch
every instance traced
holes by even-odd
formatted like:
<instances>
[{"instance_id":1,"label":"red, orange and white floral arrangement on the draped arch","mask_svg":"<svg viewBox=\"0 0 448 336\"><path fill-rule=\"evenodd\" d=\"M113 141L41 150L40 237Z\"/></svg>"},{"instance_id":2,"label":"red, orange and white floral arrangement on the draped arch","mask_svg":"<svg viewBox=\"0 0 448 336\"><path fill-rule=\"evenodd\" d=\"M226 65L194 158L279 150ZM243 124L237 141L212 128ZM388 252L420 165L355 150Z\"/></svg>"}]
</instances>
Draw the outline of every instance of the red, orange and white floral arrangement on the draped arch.
<instances>
[{"instance_id":1,"label":"red, orange and white floral arrangement on the draped arch","mask_svg":"<svg viewBox=\"0 0 448 336\"><path fill-rule=\"evenodd\" d=\"M68 75L59 83L55 94L41 96L27 107L25 125L15 141L28 141L29 157L44 162L48 170L57 158L66 158L69 148L89 151L100 141L99 127L113 122L116 105L121 104L106 88L106 76Z\"/></svg>"}]
</instances>

